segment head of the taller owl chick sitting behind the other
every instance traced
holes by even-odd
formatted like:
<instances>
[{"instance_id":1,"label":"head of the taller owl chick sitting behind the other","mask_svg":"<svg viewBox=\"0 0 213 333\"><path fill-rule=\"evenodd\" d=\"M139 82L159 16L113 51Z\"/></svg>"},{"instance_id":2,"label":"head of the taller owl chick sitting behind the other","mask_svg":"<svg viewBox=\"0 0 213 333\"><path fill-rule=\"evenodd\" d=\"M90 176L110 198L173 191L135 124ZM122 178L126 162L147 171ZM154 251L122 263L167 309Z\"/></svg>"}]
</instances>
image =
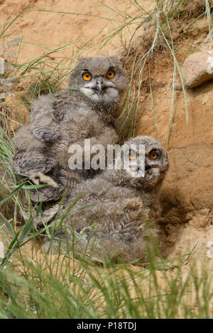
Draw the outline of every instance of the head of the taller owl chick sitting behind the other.
<instances>
[{"instance_id":1,"label":"head of the taller owl chick sitting behind the other","mask_svg":"<svg viewBox=\"0 0 213 333\"><path fill-rule=\"evenodd\" d=\"M70 74L70 88L101 109L119 104L126 84L126 71L116 57L83 57Z\"/></svg>"}]
</instances>

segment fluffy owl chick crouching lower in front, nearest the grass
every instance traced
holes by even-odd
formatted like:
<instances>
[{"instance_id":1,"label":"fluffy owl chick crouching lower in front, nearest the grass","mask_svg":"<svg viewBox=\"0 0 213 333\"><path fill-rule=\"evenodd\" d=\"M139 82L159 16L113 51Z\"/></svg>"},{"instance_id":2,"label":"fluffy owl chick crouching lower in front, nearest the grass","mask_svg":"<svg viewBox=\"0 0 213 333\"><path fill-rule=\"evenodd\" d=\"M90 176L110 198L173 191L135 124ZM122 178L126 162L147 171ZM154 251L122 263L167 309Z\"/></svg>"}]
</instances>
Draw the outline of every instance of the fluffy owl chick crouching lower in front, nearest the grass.
<instances>
[{"instance_id":1,"label":"fluffy owl chick crouching lower in front, nearest the grass","mask_svg":"<svg viewBox=\"0 0 213 333\"><path fill-rule=\"evenodd\" d=\"M129 169L125 169L124 162L129 161ZM77 186L67 198L67 205L86 194L65 219L67 230L77 232L77 249L84 252L94 247L92 255L99 259L146 261L145 243L150 231L160 239L158 188L168 166L168 153L160 142L138 136L126 142L121 169L108 169ZM70 239L72 242L72 236Z\"/></svg>"}]
</instances>

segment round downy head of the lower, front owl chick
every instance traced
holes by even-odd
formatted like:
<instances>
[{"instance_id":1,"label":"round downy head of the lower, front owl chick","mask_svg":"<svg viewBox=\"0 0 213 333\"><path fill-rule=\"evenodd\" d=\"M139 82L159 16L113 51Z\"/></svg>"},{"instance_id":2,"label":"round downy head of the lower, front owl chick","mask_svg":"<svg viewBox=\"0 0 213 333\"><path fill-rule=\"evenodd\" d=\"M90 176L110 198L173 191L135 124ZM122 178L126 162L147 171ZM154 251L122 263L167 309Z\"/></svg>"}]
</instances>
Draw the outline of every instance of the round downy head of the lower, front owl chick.
<instances>
[{"instance_id":1,"label":"round downy head of the lower, front owl chick","mask_svg":"<svg viewBox=\"0 0 213 333\"><path fill-rule=\"evenodd\" d=\"M118 171L121 181L136 188L155 188L168 169L168 152L158 140L147 136L134 137L123 147Z\"/></svg>"}]
</instances>

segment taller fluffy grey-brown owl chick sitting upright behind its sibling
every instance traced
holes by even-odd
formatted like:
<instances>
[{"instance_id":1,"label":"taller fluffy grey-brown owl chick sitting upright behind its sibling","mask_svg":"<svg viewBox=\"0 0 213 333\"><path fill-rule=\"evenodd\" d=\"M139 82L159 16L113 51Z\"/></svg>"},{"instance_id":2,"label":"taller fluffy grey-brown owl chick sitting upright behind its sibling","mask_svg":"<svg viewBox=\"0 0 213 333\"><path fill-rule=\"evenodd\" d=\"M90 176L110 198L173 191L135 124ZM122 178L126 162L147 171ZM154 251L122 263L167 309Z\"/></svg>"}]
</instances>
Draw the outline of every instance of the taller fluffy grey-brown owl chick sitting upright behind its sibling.
<instances>
[{"instance_id":1,"label":"taller fluffy grey-brown owl chick sitting upright behind its sibling","mask_svg":"<svg viewBox=\"0 0 213 333\"><path fill-rule=\"evenodd\" d=\"M126 84L126 71L116 57L84 57L70 74L67 90L33 102L30 125L13 139L13 169L27 177L43 172L59 184L58 189L31 191L33 201L57 200L64 187L72 188L79 182L76 177L85 176L68 168L70 145L80 145L84 154L84 139L105 148L118 141L114 120Z\"/></svg>"}]
</instances>

